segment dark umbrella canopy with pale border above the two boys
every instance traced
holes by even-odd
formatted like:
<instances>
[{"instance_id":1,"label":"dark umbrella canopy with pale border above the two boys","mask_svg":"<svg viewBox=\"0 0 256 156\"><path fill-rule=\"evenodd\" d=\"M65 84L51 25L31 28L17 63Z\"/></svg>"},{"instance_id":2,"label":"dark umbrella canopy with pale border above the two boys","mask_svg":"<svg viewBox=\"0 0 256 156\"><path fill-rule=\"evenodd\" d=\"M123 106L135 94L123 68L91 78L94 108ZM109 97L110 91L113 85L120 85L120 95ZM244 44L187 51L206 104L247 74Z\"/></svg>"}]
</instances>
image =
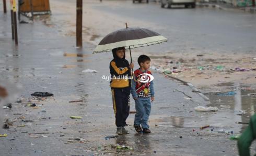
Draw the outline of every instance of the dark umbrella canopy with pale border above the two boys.
<instances>
[{"instance_id":1,"label":"dark umbrella canopy with pale border above the two boys","mask_svg":"<svg viewBox=\"0 0 256 156\"><path fill-rule=\"evenodd\" d=\"M149 46L166 42L167 40L166 37L145 28L125 28L105 36L93 53L108 52L118 47L131 49Z\"/></svg>"}]
</instances>

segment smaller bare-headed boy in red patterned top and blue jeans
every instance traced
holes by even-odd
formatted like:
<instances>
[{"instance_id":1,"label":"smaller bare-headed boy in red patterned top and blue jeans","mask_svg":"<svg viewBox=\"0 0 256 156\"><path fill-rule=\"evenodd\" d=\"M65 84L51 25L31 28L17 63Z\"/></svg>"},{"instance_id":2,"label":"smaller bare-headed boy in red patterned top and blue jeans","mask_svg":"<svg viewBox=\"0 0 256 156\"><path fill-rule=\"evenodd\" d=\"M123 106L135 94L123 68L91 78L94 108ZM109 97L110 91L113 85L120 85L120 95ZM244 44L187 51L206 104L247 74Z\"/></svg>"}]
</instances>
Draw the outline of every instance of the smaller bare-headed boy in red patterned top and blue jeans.
<instances>
[{"instance_id":1,"label":"smaller bare-headed boy in red patterned top and blue jeans","mask_svg":"<svg viewBox=\"0 0 256 156\"><path fill-rule=\"evenodd\" d=\"M150 58L146 55L138 57L139 69L134 71L131 93L135 100L136 114L134 119L134 128L138 133L150 133L147 124L151 111L151 101L154 101L154 84L152 73L148 70L150 67ZM150 80L151 79L151 80ZM142 127L141 127L142 126Z\"/></svg>"}]
</instances>

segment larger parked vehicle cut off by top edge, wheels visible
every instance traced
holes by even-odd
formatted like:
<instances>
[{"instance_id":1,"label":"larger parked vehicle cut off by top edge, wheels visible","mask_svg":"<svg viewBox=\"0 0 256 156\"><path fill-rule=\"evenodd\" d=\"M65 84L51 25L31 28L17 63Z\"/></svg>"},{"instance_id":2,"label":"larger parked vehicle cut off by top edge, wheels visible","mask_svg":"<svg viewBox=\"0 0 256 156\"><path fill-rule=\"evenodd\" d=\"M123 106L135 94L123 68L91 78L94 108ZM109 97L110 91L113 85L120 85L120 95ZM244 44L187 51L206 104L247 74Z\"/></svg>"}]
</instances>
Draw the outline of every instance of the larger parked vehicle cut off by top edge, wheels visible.
<instances>
[{"instance_id":1,"label":"larger parked vehicle cut off by top edge, wheels visible","mask_svg":"<svg viewBox=\"0 0 256 156\"><path fill-rule=\"evenodd\" d=\"M171 5L185 5L185 8L191 6L195 8L195 0L161 0L161 7L164 8L168 5L168 8L171 8Z\"/></svg>"}]
</instances>

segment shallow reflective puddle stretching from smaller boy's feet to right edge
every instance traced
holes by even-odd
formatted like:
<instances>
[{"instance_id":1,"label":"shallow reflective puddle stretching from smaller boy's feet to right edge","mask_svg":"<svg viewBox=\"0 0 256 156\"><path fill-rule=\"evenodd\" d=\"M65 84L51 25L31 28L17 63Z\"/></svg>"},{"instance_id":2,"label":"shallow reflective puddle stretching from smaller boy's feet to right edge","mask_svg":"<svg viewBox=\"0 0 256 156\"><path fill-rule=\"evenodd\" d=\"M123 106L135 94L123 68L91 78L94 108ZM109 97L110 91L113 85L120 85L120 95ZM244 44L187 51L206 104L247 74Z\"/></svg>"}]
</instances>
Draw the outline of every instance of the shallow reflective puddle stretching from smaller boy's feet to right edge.
<instances>
[{"instance_id":1,"label":"shallow reflective puddle stretching from smaller boy's feet to right edge","mask_svg":"<svg viewBox=\"0 0 256 156\"><path fill-rule=\"evenodd\" d=\"M210 125L214 132L220 129L240 133L247 126L250 116L256 110L256 89L253 86L231 86L233 90L228 92L210 92L205 94L210 99L207 107L217 107L216 112L196 112L193 116L158 116L150 120L152 125L161 127L182 127L199 129L199 127ZM225 88L226 90L226 88ZM211 131L210 128L206 130Z\"/></svg>"}]
</instances>

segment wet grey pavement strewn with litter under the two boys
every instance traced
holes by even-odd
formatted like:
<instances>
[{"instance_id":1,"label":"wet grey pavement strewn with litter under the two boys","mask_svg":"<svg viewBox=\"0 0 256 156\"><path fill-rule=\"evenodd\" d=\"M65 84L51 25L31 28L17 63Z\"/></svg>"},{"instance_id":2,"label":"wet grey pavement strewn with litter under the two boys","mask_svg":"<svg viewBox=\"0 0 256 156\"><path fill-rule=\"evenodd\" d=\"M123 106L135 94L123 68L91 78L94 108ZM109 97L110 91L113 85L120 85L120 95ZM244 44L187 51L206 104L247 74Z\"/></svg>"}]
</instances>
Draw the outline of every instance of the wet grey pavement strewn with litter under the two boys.
<instances>
[{"instance_id":1,"label":"wet grey pavement strewn with litter under the two boys","mask_svg":"<svg viewBox=\"0 0 256 156\"><path fill-rule=\"evenodd\" d=\"M230 141L225 134L199 131L200 126L217 122L213 120L217 113L194 111L197 105L209 103L191 92L190 87L154 71L156 98L149 122L153 133L136 134L131 114L127 121L130 134L106 140L104 137L115 135L111 90L109 82L102 80L102 75L109 75L112 54L92 55L95 45L85 42L83 49L76 49L74 37L63 37L56 28L40 20L18 25L19 45L15 46L11 41L9 14L1 13L0 21L1 75L24 87L22 102L4 110L14 126L5 130L8 137L0 138L0 155L237 154L236 141ZM130 61L129 57L126 59ZM86 69L98 72L82 72ZM29 99L34 92L50 92L54 96ZM26 100L40 105L39 108L26 107ZM83 102L70 103L72 100ZM132 100L131 111L135 110L134 105ZM72 115L83 118L71 119ZM134 150L111 148L117 144Z\"/></svg>"}]
</instances>

